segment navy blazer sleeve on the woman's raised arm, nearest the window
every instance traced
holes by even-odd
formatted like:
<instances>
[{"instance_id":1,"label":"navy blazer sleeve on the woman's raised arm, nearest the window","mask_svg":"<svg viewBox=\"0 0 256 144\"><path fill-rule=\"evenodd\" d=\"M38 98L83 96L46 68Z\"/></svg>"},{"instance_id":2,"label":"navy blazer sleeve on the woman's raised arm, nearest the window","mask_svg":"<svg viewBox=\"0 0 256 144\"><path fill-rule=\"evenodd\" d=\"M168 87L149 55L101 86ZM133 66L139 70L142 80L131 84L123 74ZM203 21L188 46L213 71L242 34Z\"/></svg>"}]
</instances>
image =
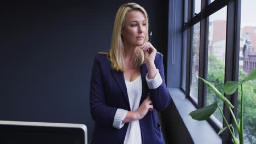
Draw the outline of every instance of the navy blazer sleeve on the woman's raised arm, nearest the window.
<instances>
[{"instance_id":1,"label":"navy blazer sleeve on the woman's raised arm, nearest the window","mask_svg":"<svg viewBox=\"0 0 256 144\"><path fill-rule=\"evenodd\" d=\"M159 73L162 78L162 84L155 89L150 90L150 99L154 105L154 109L158 111L165 110L167 106L170 104L171 96L167 91L165 85L165 72L164 72L164 64L162 63L162 55L159 55L159 62L156 63L156 68L159 70Z\"/></svg>"}]
</instances>

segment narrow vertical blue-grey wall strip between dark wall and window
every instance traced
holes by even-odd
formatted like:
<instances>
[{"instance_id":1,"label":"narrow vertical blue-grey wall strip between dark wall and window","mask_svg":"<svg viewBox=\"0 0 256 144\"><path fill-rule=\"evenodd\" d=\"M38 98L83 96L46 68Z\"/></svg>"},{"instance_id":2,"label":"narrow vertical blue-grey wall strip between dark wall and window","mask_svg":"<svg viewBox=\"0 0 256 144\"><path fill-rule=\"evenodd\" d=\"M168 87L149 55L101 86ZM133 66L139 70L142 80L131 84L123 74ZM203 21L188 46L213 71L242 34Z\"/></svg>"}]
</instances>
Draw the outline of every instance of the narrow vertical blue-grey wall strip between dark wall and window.
<instances>
[{"instance_id":1,"label":"narrow vertical blue-grey wall strip between dark wall and window","mask_svg":"<svg viewBox=\"0 0 256 144\"><path fill-rule=\"evenodd\" d=\"M171 88L181 87L183 5L183 1L169 3L167 86Z\"/></svg>"}]
</instances>

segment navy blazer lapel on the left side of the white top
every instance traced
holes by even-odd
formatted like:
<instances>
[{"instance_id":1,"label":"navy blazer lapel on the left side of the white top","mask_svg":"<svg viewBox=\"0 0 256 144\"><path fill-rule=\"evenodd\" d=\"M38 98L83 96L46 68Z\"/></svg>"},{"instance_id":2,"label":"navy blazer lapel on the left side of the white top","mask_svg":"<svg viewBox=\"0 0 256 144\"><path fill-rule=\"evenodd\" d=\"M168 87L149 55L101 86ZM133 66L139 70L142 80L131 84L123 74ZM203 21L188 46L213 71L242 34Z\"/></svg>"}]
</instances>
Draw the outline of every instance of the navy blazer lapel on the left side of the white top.
<instances>
[{"instance_id":1,"label":"navy blazer lapel on the left side of the white top","mask_svg":"<svg viewBox=\"0 0 256 144\"><path fill-rule=\"evenodd\" d=\"M123 72L117 71L117 70L112 70L112 73L114 75L115 81L117 81L119 87L121 88L127 103L130 105Z\"/></svg>"}]
</instances>

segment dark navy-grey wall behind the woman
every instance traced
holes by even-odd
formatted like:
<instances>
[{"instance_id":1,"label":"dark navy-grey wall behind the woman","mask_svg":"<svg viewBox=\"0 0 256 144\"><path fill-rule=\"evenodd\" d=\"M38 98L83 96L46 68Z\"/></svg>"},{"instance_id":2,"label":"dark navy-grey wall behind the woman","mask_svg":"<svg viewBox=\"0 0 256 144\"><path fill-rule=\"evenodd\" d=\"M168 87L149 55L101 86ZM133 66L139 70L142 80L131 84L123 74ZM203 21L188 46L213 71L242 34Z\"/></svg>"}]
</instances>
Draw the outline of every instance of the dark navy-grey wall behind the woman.
<instances>
[{"instance_id":1,"label":"dark navy-grey wall behind the woman","mask_svg":"<svg viewBox=\"0 0 256 144\"><path fill-rule=\"evenodd\" d=\"M0 120L83 123L90 140L92 62L109 49L124 2L1 4ZM152 44L166 55L168 1L133 2L148 11Z\"/></svg>"}]
</instances>

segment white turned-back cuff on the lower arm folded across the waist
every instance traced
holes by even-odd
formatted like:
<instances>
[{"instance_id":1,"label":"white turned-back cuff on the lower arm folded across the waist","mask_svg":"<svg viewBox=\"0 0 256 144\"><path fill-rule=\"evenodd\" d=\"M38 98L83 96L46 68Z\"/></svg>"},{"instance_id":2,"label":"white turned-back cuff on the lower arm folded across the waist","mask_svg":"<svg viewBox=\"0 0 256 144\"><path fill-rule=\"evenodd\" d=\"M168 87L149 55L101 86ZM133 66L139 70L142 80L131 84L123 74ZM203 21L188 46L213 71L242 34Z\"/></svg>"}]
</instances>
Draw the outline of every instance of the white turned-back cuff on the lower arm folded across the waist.
<instances>
[{"instance_id":1,"label":"white turned-back cuff on the lower arm folded across the waist","mask_svg":"<svg viewBox=\"0 0 256 144\"><path fill-rule=\"evenodd\" d=\"M115 112L115 117L114 117L114 122L113 122L113 127L120 129L123 128L124 124L123 120L125 119L127 115L127 110L124 109L118 109L117 112Z\"/></svg>"}]
</instances>

